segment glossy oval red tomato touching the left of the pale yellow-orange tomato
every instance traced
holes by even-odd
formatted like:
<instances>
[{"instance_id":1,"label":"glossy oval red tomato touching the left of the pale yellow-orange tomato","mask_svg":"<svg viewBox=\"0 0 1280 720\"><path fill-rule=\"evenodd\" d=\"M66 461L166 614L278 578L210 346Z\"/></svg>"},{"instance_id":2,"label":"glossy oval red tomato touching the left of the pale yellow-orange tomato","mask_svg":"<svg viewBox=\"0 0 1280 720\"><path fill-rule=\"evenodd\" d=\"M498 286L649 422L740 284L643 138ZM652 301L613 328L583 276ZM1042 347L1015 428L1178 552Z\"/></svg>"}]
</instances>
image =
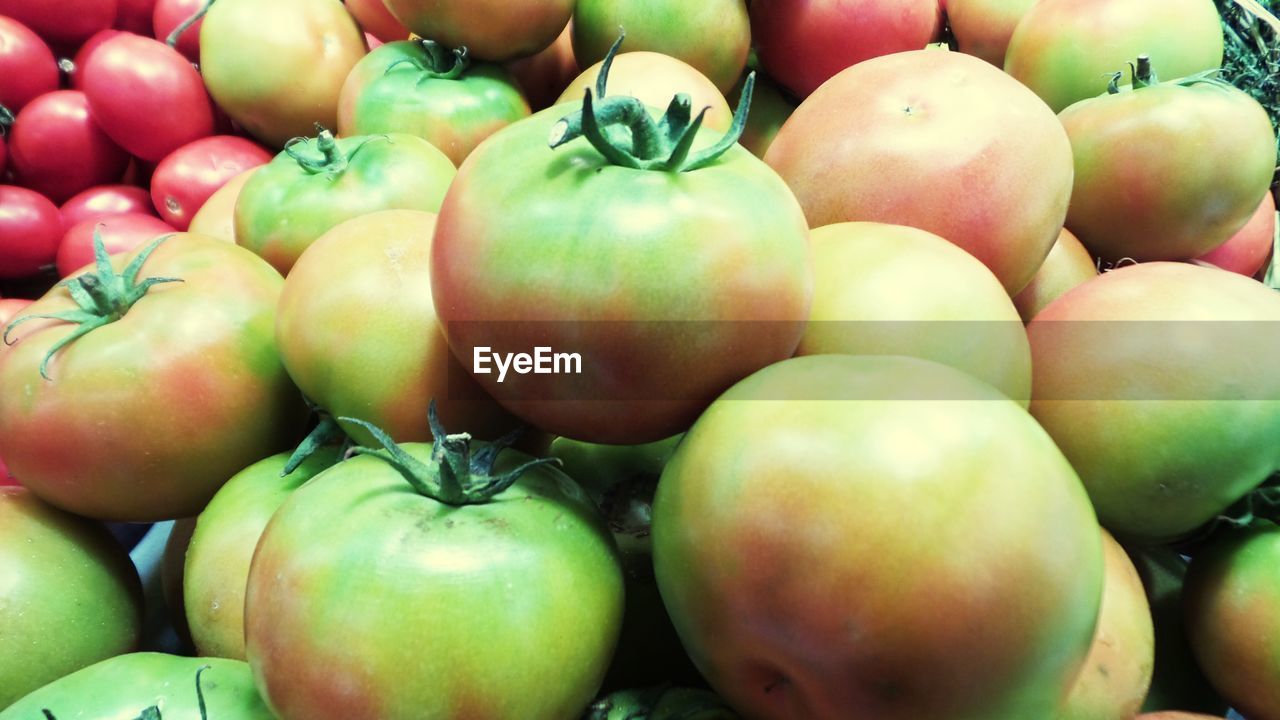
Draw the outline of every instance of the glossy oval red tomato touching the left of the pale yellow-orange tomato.
<instances>
[{"instance_id":1,"label":"glossy oval red tomato touching the left of the pale yellow-orange tomato","mask_svg":"<svg viewBox=\"0 0 1280 720\"><path fill-rule=\"evenodd\" d=\"M122 33L102 42L83 72L93 119L143 160L160 160L214 132L200 73L164 42Z\"/></svg>"}]
</instances>

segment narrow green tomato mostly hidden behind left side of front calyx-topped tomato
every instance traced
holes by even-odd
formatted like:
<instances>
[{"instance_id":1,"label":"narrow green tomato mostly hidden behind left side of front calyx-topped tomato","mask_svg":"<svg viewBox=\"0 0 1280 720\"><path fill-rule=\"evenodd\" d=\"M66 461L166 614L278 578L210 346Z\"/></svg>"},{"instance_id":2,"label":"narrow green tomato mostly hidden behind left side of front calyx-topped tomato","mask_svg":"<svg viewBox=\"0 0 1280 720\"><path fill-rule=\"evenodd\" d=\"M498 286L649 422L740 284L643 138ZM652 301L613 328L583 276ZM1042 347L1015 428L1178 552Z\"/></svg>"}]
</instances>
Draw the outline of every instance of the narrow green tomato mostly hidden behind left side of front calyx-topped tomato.
<instances>
[{"instance_id":1,"label":"narrow green tomato mostly hidden behind left side of front calyx-topped tomato","mask_svg":"<svg viewBox=\"0 0 1280 720\"><path fill-rule=\"evenodd\" d=\"M191 637L202 656L244 660L244 588L262 529L293 491L338 461L335 447L321 448L282 477L289 455L273 455L237 473L196 519L182 587Z\"/></svg>"}]
</instances>

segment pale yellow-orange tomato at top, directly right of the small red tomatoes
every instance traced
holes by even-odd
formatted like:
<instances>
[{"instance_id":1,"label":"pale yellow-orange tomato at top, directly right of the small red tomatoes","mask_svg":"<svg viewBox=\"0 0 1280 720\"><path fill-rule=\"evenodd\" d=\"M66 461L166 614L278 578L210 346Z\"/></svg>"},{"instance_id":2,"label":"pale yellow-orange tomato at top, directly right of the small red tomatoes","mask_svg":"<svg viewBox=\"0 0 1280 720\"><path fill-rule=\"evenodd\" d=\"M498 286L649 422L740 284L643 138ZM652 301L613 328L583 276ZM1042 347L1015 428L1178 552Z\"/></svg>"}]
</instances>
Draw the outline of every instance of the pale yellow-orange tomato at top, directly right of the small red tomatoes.
<instances>
[{"instance_id":1,"label":"pale yellow-orange tomato at top, directly right of the small red tomatoes","mask_svg":"<svg viewBox=\"0 0 1280 720\"><path fill-rule=\"evenodd\" d=\"M270 147L334 127L338 94L365 55L365 36L339 0L219 0L200 28L209 92Z\"/></svg>"}]
</instances>

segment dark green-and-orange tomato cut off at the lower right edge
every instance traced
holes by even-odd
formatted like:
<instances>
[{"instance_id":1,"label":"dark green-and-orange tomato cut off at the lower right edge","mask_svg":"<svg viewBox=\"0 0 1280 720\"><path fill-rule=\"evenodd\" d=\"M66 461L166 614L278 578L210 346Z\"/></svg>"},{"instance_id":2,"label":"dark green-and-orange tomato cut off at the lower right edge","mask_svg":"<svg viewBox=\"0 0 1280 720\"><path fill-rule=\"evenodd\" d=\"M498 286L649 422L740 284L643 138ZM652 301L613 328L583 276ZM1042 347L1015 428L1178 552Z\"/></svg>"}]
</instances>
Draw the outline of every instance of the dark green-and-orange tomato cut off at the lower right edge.
<instances>
[{"instance_id":1,"label":"dark green-and-orange tomato cut off at the lower right edge","mask_svg":"<svg viewBox=\"0 0 1280 720\"><path fill-rule=\"evenodd\" d=\"M1196 553L1184 585L1184 618L1196 659L1222 697L1247 717L1280 707L1280 528L1270 521L1228 532Z\"/></svg>"}]
</instances>

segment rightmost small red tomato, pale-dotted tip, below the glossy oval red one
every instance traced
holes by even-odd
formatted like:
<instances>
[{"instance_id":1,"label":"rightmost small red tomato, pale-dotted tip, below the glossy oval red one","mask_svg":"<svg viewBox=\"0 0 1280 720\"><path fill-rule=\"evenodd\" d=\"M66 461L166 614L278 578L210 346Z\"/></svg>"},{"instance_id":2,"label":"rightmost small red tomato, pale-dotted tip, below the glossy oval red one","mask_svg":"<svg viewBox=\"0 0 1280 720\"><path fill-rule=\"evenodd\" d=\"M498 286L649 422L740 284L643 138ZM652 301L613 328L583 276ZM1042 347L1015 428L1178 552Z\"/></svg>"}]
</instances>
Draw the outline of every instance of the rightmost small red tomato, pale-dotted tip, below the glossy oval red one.
<instances>
[{"instance_id":1,"label":"rightmost small red tomato, pale-dotted tip, below the glossy oval red one","mask_svg":"<svg viewBox=\"0 0 1280 720\"><path fill-rule=\"evenodd\" d=\"M243 137L218 135L183 145L156 165L151 201L169 224L186 231L209 196L242 172L274 156Z\"/></svg>"}]
</instances>

